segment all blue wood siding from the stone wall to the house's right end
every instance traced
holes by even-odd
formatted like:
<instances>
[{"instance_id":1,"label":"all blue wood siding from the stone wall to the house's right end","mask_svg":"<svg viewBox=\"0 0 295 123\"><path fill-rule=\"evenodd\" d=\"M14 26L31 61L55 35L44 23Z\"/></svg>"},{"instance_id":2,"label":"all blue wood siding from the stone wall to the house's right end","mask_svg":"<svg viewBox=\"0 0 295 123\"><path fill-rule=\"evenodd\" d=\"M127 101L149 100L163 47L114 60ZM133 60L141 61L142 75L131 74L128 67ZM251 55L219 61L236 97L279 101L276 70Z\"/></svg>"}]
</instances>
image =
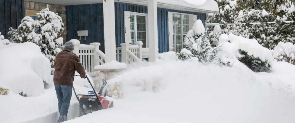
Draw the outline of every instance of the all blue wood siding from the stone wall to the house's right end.
<instances>
[{"instance_id":1,"label":"all blue wood siding from the stone wall to the house's right end","mask_svg":"<svg viewBox=\"0 0 295 123\"><path fill-rule=\"evenodd\" d=\"M116 46L120 47L125 42L124 11L137 13L148 13L147 6L115 3L115 26L116 26ZM159 53L169 50L168 37L168 12L178 12L195 14L204 23L206 14L197 12L187 12L171 9L157 8L158 11L158 48ZM104 23L103 23L103 4L73 5L67 6L67 39L79 39L78 30L88 30L88 37L81 39L81 44L100 42L100 50L104 51Z\"/></svg>"}]
</instances>

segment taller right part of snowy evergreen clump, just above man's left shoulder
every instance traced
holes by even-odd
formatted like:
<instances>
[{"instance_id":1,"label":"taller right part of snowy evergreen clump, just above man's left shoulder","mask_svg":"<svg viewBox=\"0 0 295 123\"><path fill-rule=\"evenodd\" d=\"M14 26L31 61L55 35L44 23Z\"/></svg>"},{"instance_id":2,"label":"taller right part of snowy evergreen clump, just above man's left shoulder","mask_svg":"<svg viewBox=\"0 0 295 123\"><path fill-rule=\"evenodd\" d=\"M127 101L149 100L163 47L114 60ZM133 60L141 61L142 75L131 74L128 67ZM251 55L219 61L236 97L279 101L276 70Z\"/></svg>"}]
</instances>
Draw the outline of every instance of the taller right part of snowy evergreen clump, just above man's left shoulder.
<instances>
[{"instance_id":1,"label":"taller right part of snowy evergreen clump, just above man's left shoulder","mask_svg":"<svg viewBox=\"0 0 295 123\"><path fill-rule=\"evenodd\" d=\"M62 26L64 25L61 17L50 11L49 6L44 10L41 10L40 13L37 13L38 18L41 18L40 28L37 29L42 35L40 41L40 48L43 54L49 58L51 64L54 64L54 56L57 54L57 48L63 46L63 42L56 40L59 36L59 33L63 30Z\"/></svg>"}]
</instances>

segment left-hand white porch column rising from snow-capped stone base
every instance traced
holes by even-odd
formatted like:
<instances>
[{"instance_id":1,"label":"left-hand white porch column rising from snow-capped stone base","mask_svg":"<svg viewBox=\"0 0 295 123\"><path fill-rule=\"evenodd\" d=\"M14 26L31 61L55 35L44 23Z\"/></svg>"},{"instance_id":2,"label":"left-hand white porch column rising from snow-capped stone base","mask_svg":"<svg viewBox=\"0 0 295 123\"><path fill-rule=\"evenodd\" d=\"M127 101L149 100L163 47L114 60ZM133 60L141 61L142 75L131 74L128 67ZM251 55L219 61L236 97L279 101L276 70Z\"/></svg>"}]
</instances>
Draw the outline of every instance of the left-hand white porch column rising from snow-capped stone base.
<instances>
[{"instance_id":1,"label":"left-hand white porch column rising from snow-capped stone base","mask_svg":"<svg viewBox=\"0 0 295 123\"><path fill-rule=\"evenodd\" d=\"M116 60L116 37L115 37L115 2L104 0L104 53L105 62Z\"/></svg>"}]
</instances>

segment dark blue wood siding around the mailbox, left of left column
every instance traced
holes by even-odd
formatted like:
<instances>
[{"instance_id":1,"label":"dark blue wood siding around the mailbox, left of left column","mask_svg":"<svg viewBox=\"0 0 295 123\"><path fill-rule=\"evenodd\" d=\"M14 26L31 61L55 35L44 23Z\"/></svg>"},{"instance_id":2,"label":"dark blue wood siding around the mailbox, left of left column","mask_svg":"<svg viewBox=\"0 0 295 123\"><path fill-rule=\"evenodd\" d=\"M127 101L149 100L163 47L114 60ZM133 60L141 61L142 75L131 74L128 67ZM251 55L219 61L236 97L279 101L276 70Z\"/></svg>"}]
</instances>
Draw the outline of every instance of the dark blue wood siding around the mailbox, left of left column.
<instances>
[{"instance_id":1,"label":"dark blue wood siding around the mailbox, left of left column","mask_svg":"<svg viewBox=\"0 0 295 123\"><path fill-rule=\"evenodd\" d=\"M73 5L67 7L67 39L80 39L78 30L88 30L88 36L81 37L81 44L100 43L104 52L104 15L103 4Z\"/></svg>"}]
</instances>

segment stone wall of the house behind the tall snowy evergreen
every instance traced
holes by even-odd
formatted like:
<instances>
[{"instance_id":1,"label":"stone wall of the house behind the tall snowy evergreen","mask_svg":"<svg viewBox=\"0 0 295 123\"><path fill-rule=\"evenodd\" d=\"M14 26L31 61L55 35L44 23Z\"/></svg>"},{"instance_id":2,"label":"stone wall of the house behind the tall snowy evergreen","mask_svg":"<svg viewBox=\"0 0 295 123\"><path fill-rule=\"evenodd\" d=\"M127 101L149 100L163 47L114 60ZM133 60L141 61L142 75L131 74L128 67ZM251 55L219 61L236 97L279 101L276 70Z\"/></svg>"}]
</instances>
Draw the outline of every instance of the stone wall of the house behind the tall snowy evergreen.
<instances>
[{"instance_id":1,"label":"stone wall of the house behind the tall snowy evergreen","mask_svg":"<svg viewBox=\"0 0 295 123\"><path fill-rule=\"evenodd\" d=\"M48 3L41 3L41 2L29 2L25 1L25 16L26 16L26 10L42 10L45 9L46 5ZM53 11L55 13L58 13L59 16L62 18L62 22L64 23L64 31L61 32L62 38L64 38L64 43L67 41L67 18L66 18L66 6L61 6L61 5L53 5L53 4L48 4L49 10Z\"/></svg>"}]
</instances>

